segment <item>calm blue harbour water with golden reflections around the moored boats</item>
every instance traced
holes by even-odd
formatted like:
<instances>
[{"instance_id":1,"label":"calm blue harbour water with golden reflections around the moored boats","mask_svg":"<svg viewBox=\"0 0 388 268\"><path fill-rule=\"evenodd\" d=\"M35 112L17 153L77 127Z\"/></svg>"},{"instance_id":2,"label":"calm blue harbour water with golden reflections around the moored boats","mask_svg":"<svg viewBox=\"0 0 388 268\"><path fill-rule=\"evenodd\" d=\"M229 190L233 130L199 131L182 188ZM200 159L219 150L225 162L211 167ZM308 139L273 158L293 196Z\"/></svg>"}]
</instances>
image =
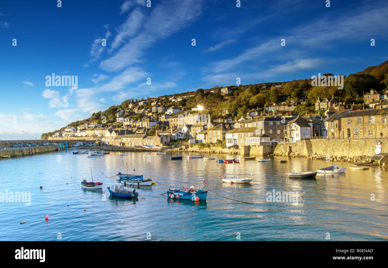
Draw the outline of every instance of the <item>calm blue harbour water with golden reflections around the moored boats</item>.
<instances>
[{"instance_id":1,"label":"calm blue harbour water with golden reflections around the moored boats","mask_svg":"<svg viewBox=\"0 0 388 268\"><path fill-rule=\"evenodd\" d=\"M188 160L185 153L183 160L171 161L170 156L151 152L119 156L111 152L87 158L61 151L2 159L0 192L31 192L31 204L0 203L0 240L57 241L58 233L63 241L145 241L147 236L156 241L236 241L238 233L242 241L325 241L327 233L331 241L388 239L388 172L381 168L347 168L346 175L298 180L288 179L285 173L331 164L275 157L270 162L217 166L215 160ZM279 163L280 159L288 162ZM161 184L201 187L258 204L210 193L207 201L199 203L171 201L161 195L169 187L158 184L137 189L145 199L111 198L106 191L104 201L106 184L116 182L118 171L126 173L126 162L129 173L143 174ZM90 179L90 168L94 181L104 183L103 191L81 189L81 180ZM222 174L254 180L251 185L230 185L221 181ZM267 203L266 192L274 189L298 192L298 204ZM371 194L375 201L371 201Z\"/></svg>"}]
</instances>

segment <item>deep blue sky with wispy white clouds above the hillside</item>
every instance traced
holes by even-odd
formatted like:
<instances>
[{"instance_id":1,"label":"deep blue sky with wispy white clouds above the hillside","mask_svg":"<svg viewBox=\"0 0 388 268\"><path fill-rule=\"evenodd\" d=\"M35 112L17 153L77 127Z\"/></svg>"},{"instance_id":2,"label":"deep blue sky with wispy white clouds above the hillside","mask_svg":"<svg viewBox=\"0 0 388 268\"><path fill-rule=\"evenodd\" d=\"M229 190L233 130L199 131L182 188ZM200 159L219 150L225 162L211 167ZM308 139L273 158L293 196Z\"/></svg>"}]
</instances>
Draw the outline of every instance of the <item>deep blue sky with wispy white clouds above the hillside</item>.
<instances>
[{"instance_id":1,"label":"deep blue sky with wispy white clouds above the hillside","mask_svg":"<svg viewBox=\"0 0 388 268\"><path fill-rule=\"evenodd\" d=\"M346 75L388 60L386 1L8 1L0 139L39 138L138 96ZM102 46L102 39L106 46ZM192 46L192 39L196 46ZM281 46L281 39L286 46ZM371 39L376 45L371 46ZM12 40L17 46L12 46ZM46 76L78 76L78 87ZM147 85L151 77L151 85Z\"/></svg>"}]
</instances>

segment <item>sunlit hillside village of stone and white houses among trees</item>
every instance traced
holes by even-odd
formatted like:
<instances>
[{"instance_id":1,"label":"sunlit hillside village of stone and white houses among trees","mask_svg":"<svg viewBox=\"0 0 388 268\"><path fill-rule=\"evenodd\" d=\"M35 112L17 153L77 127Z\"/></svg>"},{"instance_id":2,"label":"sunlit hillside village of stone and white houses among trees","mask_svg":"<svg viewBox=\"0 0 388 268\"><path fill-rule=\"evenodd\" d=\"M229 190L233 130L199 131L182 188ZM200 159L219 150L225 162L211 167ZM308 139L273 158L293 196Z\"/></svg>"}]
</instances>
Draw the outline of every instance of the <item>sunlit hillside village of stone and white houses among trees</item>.
<instances>
[{"instance_id":1,"label":"sunlit hillside village of stone and white houses among trees","mask_svg":"<svg viewBox=\"0 0 388 268\"><path fill-rule=\"evenodd\" d=\"M373 86L373 88L371 88ZM42 137L111 146L217 144L223 148L301 139L388 138L388 61L345 78L343 89L311 79L215 86L126 100Z\"/></svg>"}]
</instances>

